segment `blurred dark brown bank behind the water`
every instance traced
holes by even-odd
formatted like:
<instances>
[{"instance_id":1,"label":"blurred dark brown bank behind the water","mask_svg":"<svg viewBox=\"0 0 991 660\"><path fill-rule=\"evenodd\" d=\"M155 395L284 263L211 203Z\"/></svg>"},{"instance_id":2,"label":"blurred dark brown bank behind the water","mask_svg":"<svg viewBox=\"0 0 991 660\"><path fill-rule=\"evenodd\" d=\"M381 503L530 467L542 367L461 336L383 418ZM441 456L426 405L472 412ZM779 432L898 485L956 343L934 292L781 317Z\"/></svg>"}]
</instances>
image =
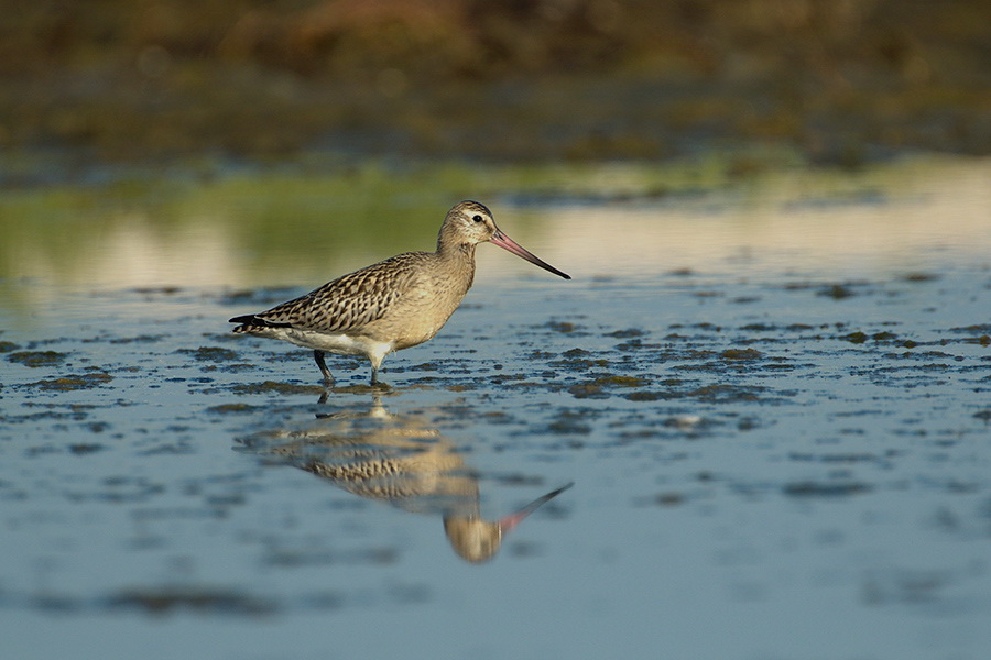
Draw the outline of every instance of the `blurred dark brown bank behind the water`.
<instances>
[{"instance_id":1,"label":"blurred dark brown bank behind the water","mask_svg":"<svg viewBox=\"0 0 991 660\"><path fill-rule=\"evenodd\" d=\"M21 154L8 185L42 176L25 161L53 150L59 167L314 150L663 160L753 144L856 167L991 151L985 0L2 0L0 12L0 146Z\"/></svg>"}]
</instances>

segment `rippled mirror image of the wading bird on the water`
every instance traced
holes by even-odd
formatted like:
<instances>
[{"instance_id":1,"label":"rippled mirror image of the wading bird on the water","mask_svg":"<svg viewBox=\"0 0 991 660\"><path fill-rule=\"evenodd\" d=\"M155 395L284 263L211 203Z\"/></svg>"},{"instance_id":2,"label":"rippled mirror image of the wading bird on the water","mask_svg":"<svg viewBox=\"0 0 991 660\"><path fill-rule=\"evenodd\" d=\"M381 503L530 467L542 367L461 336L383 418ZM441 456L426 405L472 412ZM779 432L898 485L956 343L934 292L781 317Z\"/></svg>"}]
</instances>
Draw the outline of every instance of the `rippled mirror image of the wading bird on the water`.
<instances>
[{"instance_id":1,"label":"rippled mirror image of the wading bird on the water","mask_svg":"<svg viewBox=\"0 0 991 660\"><path fill-rule=\"evenodd\" d=\"M484 520L478 476L454 444L436 429L410 424L381 406L367 414L325 416L306 429L281 429L241 441L355 495L442 516L455 552L470 562L491 559L507 534L573 485L556 488L499 520Z\"/></svg>"}]
</instances>

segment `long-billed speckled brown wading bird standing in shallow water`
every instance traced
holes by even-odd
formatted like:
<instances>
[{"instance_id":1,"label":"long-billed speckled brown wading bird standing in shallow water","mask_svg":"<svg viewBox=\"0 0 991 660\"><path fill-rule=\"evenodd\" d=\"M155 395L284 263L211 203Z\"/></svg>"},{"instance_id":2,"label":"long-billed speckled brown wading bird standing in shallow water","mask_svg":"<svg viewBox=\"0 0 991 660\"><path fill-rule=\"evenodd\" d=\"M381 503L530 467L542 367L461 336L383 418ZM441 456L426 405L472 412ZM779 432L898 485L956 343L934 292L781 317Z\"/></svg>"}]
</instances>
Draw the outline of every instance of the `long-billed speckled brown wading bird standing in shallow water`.
<instances>
[{"instance_id":1,"label":"long-billed speckled brown wading bird standing in shallow water","mask_svg":"<svg viewBox=\"0 0 991 660\"><path fill-rule=\"evenodd\" d=\"M268 311L235 317L233 331L282 339L313 349L324 380L333 381L325 353L363 355L371 382L389 353L433 339L475 279L475 246L491 241L565 279L502 233L477 201L456 205L440 226L436 252L406 252L325 284Z\"/></svg>"}]
</instances>

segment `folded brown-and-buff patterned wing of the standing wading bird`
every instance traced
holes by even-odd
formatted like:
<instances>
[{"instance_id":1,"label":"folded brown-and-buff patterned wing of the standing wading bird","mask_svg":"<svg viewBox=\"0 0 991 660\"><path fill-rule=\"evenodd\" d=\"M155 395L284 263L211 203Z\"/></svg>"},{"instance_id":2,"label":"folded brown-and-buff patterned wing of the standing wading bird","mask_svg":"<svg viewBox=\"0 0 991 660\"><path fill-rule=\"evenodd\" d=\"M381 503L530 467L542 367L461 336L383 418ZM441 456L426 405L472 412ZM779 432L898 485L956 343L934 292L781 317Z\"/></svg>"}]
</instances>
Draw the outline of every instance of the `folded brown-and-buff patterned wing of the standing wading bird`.
<instances>
[{"instance_id":1,"label":"folded brown-and-buff patterned wing of the standing wading bird","mask_svg":"<svg viewBox=\"0 0 991 660\"><path fill-rule=\"evenodd\" d=\"M406 292L414 288L415 266L426 256L422 252L400 254L342 275L268 311L232 320L318 332L348 332L382 318Z\"/></svg>"}]
</instances>

